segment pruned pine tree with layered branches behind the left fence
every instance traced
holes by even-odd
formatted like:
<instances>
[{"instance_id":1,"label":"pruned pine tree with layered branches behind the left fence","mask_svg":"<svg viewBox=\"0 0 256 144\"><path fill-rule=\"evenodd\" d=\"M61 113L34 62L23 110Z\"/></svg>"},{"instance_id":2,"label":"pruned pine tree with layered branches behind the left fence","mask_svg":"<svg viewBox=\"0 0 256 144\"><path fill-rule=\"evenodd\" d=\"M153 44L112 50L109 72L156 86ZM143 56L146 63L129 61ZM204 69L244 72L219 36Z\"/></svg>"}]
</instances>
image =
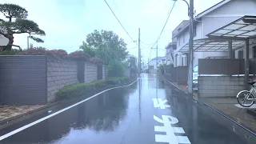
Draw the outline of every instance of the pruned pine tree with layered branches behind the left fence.
<instances>
[{"instance_id":1,"label":"pruned pine tree with layered branches behind the left fence","mask_svg":"<svg viewBox=\"0 0 256 144\"><path fill-rule=\"evenodd\" d=\"M14 34L30 34L30 38L36 42L43 42L41 38L31 36L31 34L46 35L36 22L26 19L28 12L26 9L15 4L0 4L0 12L4 18L0 18L0 34L9 39L7 46L3 50L11 50L14 45ZM20 46L18 46L20 47Z\"/></svg>"}]
</instances>

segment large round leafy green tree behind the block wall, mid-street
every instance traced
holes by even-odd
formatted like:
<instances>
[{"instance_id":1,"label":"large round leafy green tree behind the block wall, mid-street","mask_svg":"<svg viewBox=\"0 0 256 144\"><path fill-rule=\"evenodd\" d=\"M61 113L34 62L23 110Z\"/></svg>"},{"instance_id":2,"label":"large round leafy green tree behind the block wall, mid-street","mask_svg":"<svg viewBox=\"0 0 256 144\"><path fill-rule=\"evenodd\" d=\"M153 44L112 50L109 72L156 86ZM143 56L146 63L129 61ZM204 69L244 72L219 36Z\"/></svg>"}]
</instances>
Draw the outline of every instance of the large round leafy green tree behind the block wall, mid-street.
<instances>
[{"instance_id":1,"label":"large round leafy green tree behind the block wall, mid-street","mask_svg":"<svg viewBox=\"0 0 256 144\"><path fill-rule=\"evenodd\" d=\"M107 30L94 30L93 33L86 36L86 42L82 43L82 48L85 52L93 50L94 56L102 58L106 64L115 60L123 60L126 58L126 43L118 34Z\"/></svg>"}]
</instances>

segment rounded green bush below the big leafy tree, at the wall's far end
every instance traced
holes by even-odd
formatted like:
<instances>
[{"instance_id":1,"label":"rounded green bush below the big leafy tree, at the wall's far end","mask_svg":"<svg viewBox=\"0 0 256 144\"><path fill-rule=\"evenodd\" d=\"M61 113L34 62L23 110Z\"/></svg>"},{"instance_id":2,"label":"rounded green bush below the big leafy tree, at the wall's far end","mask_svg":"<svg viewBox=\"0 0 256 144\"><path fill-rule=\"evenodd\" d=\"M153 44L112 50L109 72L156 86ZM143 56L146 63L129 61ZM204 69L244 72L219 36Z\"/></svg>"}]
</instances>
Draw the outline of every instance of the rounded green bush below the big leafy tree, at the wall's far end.
<instances>
[{"instance_id":1,"label":"rounded green bush below the big leafy tree, at the wall's far end","mask_svg":"<svg viewBox=\"0 0 256 144\"><path fill-rule=\"evenodd\" d=\"M108 76L109 77L122 77L126 70L126 63L120 61L110 62L108 65Z\"/></svg>"}]
</instances>

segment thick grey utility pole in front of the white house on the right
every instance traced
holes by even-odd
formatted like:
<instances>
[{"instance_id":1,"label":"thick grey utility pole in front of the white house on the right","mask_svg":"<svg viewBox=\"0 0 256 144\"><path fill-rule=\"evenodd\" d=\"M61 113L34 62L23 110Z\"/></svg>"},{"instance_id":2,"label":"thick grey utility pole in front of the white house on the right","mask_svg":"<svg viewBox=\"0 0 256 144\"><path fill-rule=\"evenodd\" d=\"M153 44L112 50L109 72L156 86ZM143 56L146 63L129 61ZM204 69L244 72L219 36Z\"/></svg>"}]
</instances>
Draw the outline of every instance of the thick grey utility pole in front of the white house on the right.
<instances>
[{"instance_id":1,"label":"thick grey utility pole in front of the white house on the right","mask_svg":"<svg viewBox=\"0 0 256 144\"><path fill-rule=\"evenodd\" d=\"M189 42L189 73L188 73L188 89L189 93L193 94L193 40L194 40L194 0L190 0L190 42Z\"/></svg>"}]
</instances>

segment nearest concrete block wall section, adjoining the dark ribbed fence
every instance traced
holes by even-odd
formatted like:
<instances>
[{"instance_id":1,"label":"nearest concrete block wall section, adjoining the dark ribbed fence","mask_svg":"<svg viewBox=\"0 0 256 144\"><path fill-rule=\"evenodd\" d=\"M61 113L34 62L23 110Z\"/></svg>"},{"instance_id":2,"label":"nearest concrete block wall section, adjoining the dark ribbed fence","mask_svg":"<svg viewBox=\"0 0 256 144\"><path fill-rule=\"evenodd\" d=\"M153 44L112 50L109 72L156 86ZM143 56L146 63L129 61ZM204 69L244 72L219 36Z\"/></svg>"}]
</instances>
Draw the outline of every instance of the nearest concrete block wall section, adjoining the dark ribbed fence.
<instances>
[{"instance_id":1,"label":"nearest concrete block wall section, adjoining the dark ribbed fence","mask_svg":"<svg viewBox=\"0 0 256 144\"><path fill-rule=\"evenodd\" d=\"M78 83L78 65L75 61L47 59L47 100L52 102L55 94L64 86Z\"/></svg>"}]
</instances>

